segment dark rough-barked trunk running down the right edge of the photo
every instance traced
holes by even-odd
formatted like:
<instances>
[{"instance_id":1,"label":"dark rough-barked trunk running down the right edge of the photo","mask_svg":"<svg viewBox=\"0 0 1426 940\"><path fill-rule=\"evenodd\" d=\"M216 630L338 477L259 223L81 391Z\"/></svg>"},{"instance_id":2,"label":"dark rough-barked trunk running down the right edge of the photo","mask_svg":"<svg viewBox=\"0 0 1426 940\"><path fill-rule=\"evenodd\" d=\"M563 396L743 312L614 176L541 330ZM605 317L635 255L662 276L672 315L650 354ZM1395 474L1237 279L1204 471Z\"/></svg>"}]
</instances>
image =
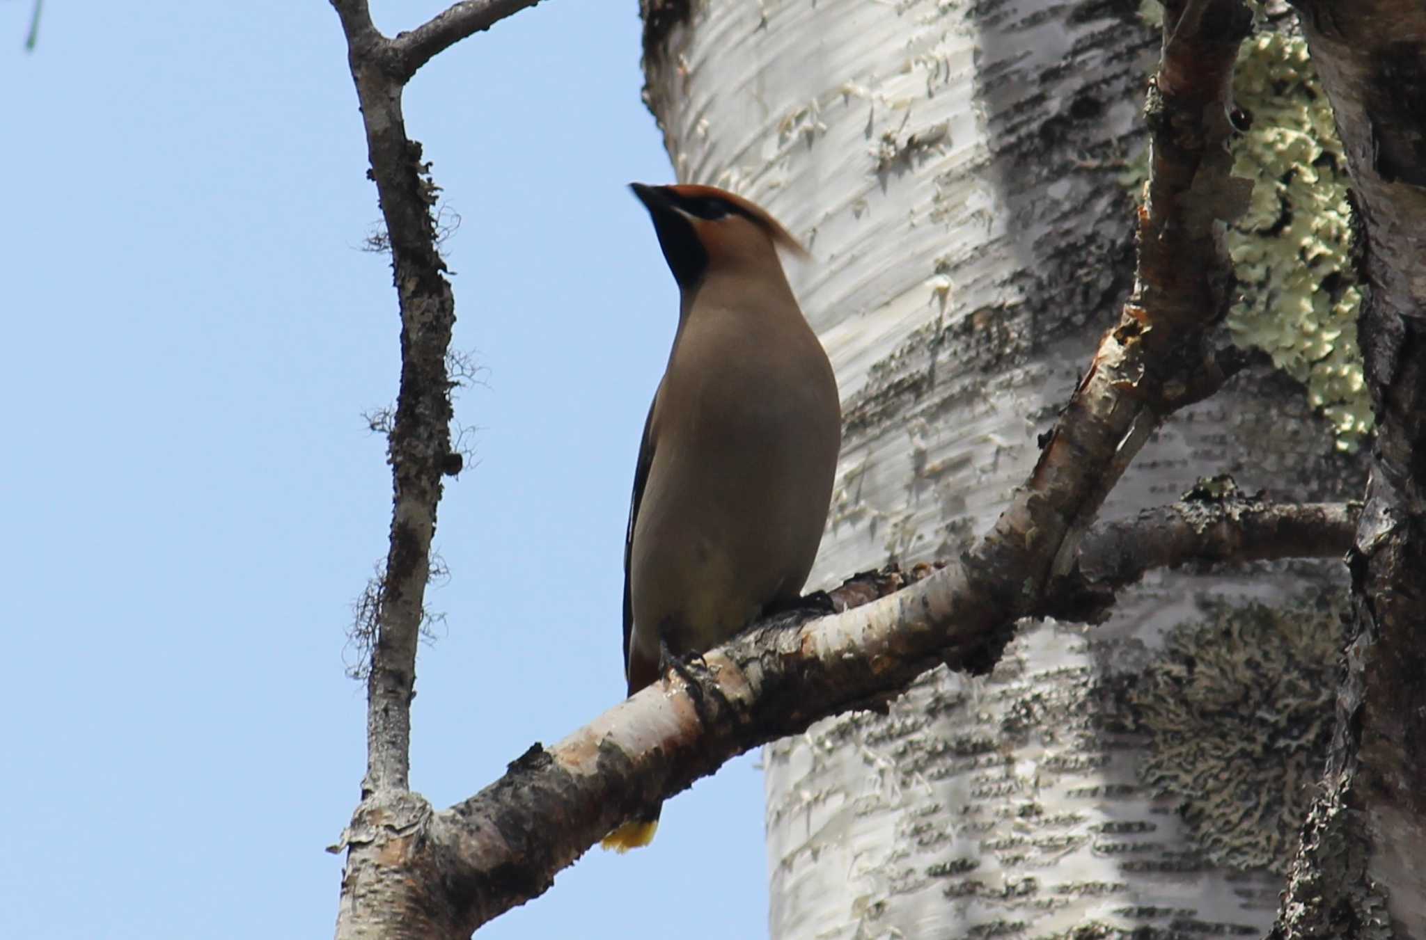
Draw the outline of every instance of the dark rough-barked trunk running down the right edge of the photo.
<instances>
[{"instance_id":1,"label":"dark rough-barked trunk running down the right edge of the photo","mask_svg":"<svg viewBox=\"0 0 1426 940\"><path fill-rule=\"evenodd\" d=\"M1299 4L1360 216L1378 439L1323 795L1276 937L1426 937L1426 7Z\"/></svg>"}]
</instances>

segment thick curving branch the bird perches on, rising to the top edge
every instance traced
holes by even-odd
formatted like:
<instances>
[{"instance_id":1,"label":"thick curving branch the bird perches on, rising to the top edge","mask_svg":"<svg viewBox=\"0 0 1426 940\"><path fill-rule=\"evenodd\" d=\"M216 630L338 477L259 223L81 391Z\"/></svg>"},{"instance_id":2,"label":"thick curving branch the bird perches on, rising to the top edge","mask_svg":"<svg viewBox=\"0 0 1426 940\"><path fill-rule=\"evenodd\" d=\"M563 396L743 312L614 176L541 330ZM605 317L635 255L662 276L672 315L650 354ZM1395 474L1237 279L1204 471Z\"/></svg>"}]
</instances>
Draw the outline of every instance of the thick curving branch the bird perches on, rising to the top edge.
<instances>
[{"instance_id":1,"label":"thick curving branch the bird perches on, rising to the top edge","mask_svg":"<svg viewBox=\"0 0 1426 940\"><path fill-rule=\"evenodd\" d=\"M341 9L342 0L334 3ZM466 4L452 10L461 7ZM382 916L385 936L466 936L543 892L555 872L615 825L729 756L801 731L820 716L884 702L938 662L985 669L1008 642L1015 620L1045 607L1051 578L1075 570L1078 536L1148 436L1166 414L1211 395L1225 379L1206 332L1226 312L1231 283L1215 226L1246 202L1249 187L1229 174L1225 141L1232 127L1225 115L1233 58L1252 17L1239 0L1169 0L1165 7L1164 57L1148 105L1152 175L1139 214L1135 292L994 530L964 560L907 590L811 624L784 620L739 637L709 652L707 668L689 672L693 685L670 678L650 686L553 749L532 748L502 780L449 810L434 813L414 793L374 793L344 835L349 847L344 897L354 909L391 909ZM409 74L411 63L429 57L426 50L478 28L475 13L439 28L435 23L425 38L402 40L412 51L399 56L406 64L396 73ZM394 128L392 140L405 141L399 95L392 94L389 77L386 85L364 81L375 66L355 46L352 61L394 256L401 259L398 239L408 238L415 222L431 225L424 208L415 219L388 207L389 198L428 205L409 199L412 181L421 182L419 171L411 171L419 169L419 151L378 152L378 145L389 144L374 127ZM388 101L375 97L378 88ZM384 167L401 172L384 179ZM443 310L449 298L439 276L443 266L434 249L429 255L416 258L428 263L412 268L412 286L425 291L419 296L429 301L426 306ZM398 261L405 322L402 275ZM439 313L436 335L449 336L449 319ZM416 481L429 489L431 477ZM404 483L398 471L398 504L406 496ZM399 514L398 506L398 520ZM394 551L399 541L394 521ZM409 682L402 688L406 699L384 701L408 715ZM344 906L339 936L356 920Z\"/></svg>"}]
</instances>

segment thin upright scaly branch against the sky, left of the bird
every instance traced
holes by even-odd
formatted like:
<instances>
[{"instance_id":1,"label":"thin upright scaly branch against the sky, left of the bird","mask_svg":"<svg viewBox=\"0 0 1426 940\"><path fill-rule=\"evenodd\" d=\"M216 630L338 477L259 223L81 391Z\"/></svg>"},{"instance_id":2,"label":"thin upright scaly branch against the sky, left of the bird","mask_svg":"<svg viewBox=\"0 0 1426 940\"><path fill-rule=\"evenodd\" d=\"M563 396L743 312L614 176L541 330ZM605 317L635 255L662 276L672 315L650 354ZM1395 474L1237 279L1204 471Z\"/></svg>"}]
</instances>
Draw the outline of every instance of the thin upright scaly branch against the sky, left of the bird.
<instances>
[{"instance_id":1,"label":"thin upright scaly branch against the sky, left of the bird","mask_svg":"<svg viewBox=\"0 0 1426 940\"><path fill-rule=\"evenodd\" d=\"M421 145L406 137L401 111L402 85L409 77L401 74L404 46L376 31L365 0L334 0L332 6L347 36L369 175L386 224L401 309L401 386L388 434L391 541L371 597L371 622L358 624L371 648L366 775L362 802L344 835L349 850L337 936L432 936L431 924L442 919L416 903L422 896L406 890L404 879L414 857L409 833L424 812L424 800L408 792L411 699L441 477L453 466L446 352L455 299L436 251L431 215L435 187L426 177Z\"/></svg>"}]
</instances>

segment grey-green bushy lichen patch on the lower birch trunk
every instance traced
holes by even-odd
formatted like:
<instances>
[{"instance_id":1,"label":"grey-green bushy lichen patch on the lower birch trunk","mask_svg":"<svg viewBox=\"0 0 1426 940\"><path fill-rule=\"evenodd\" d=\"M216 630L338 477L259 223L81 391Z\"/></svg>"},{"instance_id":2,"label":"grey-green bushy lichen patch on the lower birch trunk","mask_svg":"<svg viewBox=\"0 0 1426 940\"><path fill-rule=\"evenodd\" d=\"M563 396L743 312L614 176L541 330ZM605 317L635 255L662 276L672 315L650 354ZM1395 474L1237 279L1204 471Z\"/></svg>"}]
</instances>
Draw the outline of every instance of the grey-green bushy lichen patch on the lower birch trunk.
<instances>
[{"instance_id":1,"label":"grey-green bushy lichen patch on the lower birch trunk","mask_svg":"<svg viewBox=\"0 0 1426 940\"><path fill-rule=\"evenodd\" d=\"M1139 778L1178 799L1202 855L1285 872L1333 728L1342 610L1214 601L1128 691L1149 736Z\"/></svg>"}]
</instances>

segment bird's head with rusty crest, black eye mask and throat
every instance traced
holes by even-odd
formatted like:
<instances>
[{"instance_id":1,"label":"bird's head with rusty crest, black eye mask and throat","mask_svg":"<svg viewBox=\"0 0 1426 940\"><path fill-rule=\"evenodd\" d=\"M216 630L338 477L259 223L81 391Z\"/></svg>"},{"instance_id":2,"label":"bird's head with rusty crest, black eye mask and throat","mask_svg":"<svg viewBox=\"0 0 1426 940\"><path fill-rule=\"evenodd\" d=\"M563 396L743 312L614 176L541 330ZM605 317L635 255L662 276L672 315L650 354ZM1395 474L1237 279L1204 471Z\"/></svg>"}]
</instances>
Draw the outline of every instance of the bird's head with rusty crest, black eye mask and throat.
<instances>
[{"instance_id":1,"label":"bird's head with rusty crest, black eye mask and throat","mask_svg":"<svg viewBox=\"0 0 1426 940\"><path fill-rule=\"evenodd\" d=\"M684 291L697 285L710 269L754 271L771 265L779 273L777 248L794 255L807 252L771 215L747 199L716 187L647 187L632 182L653 228L659 246Z\"/></svg>"}]
</instances>

